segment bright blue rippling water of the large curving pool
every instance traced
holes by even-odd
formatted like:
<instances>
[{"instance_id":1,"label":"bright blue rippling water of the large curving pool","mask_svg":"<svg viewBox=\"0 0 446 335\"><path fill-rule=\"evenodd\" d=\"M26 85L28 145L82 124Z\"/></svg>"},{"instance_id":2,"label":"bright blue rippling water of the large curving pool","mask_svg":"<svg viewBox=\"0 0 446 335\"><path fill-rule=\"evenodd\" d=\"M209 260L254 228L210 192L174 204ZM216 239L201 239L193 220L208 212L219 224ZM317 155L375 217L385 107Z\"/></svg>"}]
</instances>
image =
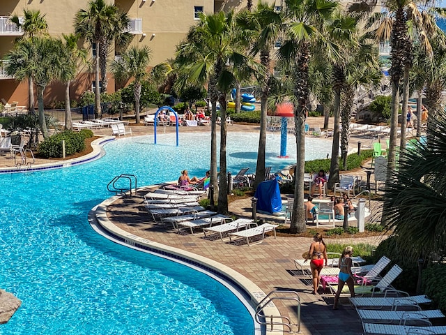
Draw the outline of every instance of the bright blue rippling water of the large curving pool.
<instances>
[{"instance_id":1,"label":"bright blue rippling water of the large curving pool","mask_svg":"<svg viewBox=\"0 0 446 335\"><path fill-rule=\"evenodd\" d=\"M104 157L75 168L0 175L0 287L22 300L0 334L253 334L249 312L224 285L116 245L87 221L112 195L107 183L117 174L135 174L139 186L176 179L185 168L203 174L209 138L183 135L176 147L171 134L158 135L157 145L134 137L107 144ZM330 152L330 142L309 140L308 147L317 145L314 158ZM255 170L256 141L255 134L230 134L231 172ZM278 143L278 135L268 137L273 170L295 161L275 158Z\"/></svg>"}]
</instances>

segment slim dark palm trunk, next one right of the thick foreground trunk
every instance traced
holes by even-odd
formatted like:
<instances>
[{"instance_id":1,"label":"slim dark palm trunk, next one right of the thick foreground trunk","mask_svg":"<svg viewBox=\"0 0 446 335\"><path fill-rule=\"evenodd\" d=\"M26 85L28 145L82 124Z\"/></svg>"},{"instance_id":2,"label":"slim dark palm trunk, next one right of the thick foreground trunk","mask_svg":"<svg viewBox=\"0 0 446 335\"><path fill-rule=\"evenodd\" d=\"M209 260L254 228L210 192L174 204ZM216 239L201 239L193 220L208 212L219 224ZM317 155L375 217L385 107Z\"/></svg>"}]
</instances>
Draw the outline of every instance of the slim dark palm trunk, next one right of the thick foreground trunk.
<instances>
[{"instance_id":1,"label":"slim dark palm trunk, next one right of the thick foreground trunk","mask_svg":"<svg viewBox=\"0 0 446 335\"><path fill-rule=\"evenodd\" d=\"M339 111L341 110L341 87L334 90L333 102L333 144L332 159L330 161L330 176L328 177L328 188L334 188L339 183Z\"/></svg>"}]
</instances>

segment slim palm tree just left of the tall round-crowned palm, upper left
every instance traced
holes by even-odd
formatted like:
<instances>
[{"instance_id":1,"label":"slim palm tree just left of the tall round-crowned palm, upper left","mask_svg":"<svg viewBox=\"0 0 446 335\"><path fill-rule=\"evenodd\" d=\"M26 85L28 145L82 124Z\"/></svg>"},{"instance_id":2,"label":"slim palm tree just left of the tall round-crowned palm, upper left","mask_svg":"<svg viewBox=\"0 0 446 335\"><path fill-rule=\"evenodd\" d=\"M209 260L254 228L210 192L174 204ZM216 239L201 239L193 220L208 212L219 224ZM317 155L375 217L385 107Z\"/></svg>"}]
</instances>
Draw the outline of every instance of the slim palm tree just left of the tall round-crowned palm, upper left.
<instances>
[{"instance_id":1,"label":"slim palm tree just left of the tall round-crowned palm, upper left","mask_svg":"<svg viewBox=\"0 0 446 335\"><path fill-rule=\"evenodd\" d=\"M65 84L65 128L72 128L71 106L70 106L70 84L77 75L79 62L85 61L86 50L79 49L77 42L79 36L74 34L63 34L63 49L60 55L63 58L59 73L59 80Z\"/></svg>"}]
</instances>

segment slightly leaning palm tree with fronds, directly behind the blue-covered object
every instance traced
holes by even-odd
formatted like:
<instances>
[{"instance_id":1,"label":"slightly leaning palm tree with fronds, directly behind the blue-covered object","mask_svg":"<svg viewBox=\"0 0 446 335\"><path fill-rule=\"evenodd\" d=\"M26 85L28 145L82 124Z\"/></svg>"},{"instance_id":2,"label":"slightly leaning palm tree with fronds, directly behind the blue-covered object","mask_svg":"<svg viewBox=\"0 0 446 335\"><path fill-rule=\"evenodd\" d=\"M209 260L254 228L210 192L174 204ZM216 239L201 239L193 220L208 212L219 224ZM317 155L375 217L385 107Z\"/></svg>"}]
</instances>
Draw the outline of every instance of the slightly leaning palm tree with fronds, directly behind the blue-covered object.
<instances>
[{"instance_id":1,"label":"slightly leaning palm tree with fronds, directly behind the blue-covered object","mask_svg":"<svg viewBox=\"0 0 446 335\"><path fill-rule=\"evenodd\" d=\"M275 11L274 3L269 5L259 1L254 12L242 11L237 17L237 24L245 31L252 31L251 37L252 54L260 55L261 65L266 68L266 73L260 78L261 87L261 118L259 149L257 151L256 179L254 189L265 179L265 147L266 147L266 124L268 112L268 92L270 91L270 50L274 46L280 29L282 28L282 15Z\"/></svg>"}]
</instances>

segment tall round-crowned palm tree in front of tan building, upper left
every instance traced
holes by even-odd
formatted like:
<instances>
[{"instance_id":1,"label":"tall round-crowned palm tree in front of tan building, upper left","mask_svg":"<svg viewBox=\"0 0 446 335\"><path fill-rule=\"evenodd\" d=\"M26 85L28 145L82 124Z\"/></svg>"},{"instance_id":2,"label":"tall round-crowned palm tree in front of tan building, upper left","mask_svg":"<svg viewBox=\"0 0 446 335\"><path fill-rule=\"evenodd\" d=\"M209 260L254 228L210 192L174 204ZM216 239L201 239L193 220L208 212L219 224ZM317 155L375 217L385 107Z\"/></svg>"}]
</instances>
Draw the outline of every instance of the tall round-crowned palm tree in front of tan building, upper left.
<instances>
[{"instance_id":1,"label":"tall round-crowned palm tree in front of tan building, upper left","mask_svg":"<svg viewBox=\"0 0 446 335\"><path fill-rule=\"evenodd\" d=\"M75 16L75 32L96 46L95 55L95 113L100 117L100 54L106 53L108 44L116 34L128 26L128 17L118 7L109 5L105 0L92 0L88 9L81 9ZM102 51L101 51L102 50ZM102 62L105 66L105 62ZM105 80L105 73L102 80ZM106 82L105 82L106 84Z\"/></svg>"}]
</instances>

